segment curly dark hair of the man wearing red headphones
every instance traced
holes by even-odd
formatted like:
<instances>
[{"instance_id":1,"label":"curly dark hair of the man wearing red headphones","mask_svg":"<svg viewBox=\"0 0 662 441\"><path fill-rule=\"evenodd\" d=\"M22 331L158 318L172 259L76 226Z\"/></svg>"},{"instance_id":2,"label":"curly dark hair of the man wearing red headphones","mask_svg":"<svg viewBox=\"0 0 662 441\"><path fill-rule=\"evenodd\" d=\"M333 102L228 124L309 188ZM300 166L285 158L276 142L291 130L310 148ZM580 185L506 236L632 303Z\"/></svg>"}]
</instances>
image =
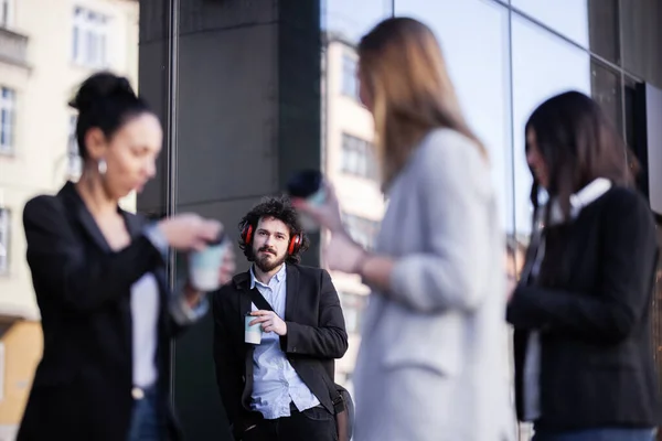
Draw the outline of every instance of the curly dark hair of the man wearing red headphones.
<instances>
[{"instance_id":1,"label":"curly dark hair of the man wearing red headphones","mask_svg":"<svg viewBox=\"0 0 662 441\"><path fill-rule=\"evenodd\" d=\"M253 207L242 220L239 220L239 239L238 245L242 251L244 251L244 256L248 259L248 261L254 261L255 256L253 254L253 247L246 244L241 235L244 230L244 227L247 225L253 226L253 230L257 228L257 223L263 217L274 217L278 220L281 220L289 228L290 238L293 235L301 234L301 247L297 252L288 255L285 262L286 263L299 263L301 261L301 252L306 251L310 245L310 240L308 240L308 236L303 232L301 227L301 223L299 222L299 215L297 211L292 206L290 200L286 195L281 196L268 196L261 200L261 202Z\"/></svg>"}]
</instances>

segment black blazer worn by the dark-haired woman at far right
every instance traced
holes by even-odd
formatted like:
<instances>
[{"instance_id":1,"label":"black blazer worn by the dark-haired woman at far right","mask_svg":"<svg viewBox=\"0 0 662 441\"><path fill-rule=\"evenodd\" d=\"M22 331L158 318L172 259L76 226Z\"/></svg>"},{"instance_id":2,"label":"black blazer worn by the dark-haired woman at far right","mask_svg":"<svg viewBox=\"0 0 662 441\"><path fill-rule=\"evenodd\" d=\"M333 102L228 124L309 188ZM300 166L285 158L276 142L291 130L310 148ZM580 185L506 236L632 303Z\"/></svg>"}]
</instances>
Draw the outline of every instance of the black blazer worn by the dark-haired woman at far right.
<instances>
[{"instance_id":1,"label":"black blazer worn by the dark-haired woman at far right","mask_svg":"<svg viewBox=\"0 0 662 441\"><path fill-rule=\"evenodd\" d=\"M651 295L658 246L648 202L612 187L547 235L536 286L517 287L508 308L520 418L526 342L537 330L538 429L655 427Z\"/></svg>"}]
</instances>

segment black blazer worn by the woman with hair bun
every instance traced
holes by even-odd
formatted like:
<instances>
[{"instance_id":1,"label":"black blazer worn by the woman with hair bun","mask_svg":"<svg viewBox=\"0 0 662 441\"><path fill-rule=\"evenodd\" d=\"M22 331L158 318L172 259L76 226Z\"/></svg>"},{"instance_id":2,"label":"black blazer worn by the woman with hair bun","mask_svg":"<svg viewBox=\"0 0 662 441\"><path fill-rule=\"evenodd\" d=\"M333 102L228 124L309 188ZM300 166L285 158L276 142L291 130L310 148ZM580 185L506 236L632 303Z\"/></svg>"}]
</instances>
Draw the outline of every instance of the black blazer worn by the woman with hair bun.
<instances>
[{"instance_id":1,"label":"black blazer worn by the woman with hair bun","mask_svg":"<svg viewBox=\"0 0 662 441\"><path fill-rule=\"evenodd\" d=\"M181 330L159 250L141 234L145 219L120 211L131 244L113 252L74 185L38 196L23 211L28 263L44 335L18 441L125 440L134 398L131 284L153 272L160 288L159 401L170 439L181 433L170 409L170 337Z\"/></svg>"}]
</instances>

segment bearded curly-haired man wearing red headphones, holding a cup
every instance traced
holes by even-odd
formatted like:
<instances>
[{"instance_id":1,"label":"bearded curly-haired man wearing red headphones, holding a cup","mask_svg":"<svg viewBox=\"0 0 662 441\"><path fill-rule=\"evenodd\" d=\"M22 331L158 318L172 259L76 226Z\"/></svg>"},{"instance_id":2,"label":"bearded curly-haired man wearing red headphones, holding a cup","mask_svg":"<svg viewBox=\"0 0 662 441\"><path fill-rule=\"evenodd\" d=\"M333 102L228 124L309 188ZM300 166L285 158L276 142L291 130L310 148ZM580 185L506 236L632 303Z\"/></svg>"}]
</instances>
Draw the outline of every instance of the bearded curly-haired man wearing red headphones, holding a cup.
<instances>
[{"instance_id":1,"label":"bearded curly-haired man wearing red headphones, holding a cup","mask_svg":"<svg viewBox=\"0 0 662 441\"><path fill-rule=\"evenodd\" d=\"M328 385L348 334L331 277L299 265L308 238L288 198L264 200L239 230L239 248L253 265L212 300L216 381L233 434L335 440ZM253 324L261 326L259 344L245 341L245 325Z\"/></svg>"}]
</instances>

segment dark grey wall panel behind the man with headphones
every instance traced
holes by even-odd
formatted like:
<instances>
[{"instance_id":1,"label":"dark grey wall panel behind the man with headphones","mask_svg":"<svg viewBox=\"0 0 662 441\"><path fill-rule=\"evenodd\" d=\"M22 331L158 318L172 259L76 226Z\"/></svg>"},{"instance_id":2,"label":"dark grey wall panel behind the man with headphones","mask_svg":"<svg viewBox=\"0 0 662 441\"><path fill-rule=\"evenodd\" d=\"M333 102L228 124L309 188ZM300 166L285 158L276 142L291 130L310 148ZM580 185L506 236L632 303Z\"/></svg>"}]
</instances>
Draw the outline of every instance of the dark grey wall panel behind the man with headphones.
<instances>
[{"instance_id":1,"label":"dark grey wall panel behind the man with headphones","mask_svg":"<svg viewBox=\"0 0 662 441\"><path fill-rule=\"evenodd\" d=\"M281 192L291 171L320 165L320 2L170 4L169 202L220 219L235 241L253 205ZM302 262L319 265L318 236L310 239ZM237 250L237 272L248 268ZM178 282L186 272L180 256ZM192 440L229 439L213 331L207 314L175 343L174 401Z\"/></svg>"}]
</instances>

